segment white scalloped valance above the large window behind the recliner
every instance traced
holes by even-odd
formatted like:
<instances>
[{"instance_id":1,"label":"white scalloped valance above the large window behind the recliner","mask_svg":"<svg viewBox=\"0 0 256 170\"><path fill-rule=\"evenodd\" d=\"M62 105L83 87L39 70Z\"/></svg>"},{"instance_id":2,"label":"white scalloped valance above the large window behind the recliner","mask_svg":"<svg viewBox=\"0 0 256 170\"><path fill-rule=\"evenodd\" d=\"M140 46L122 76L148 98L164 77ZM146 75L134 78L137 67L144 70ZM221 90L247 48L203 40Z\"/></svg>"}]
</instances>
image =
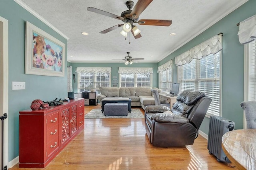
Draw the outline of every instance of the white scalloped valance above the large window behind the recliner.
<instances>
[{"instance_id":1,"label":"white scalloped valance above the large window behind the recliner","mask_svg":"<svg viewBox=\"0 0 256 170\"><path fill-rule=\"evenodd\" d=\"M215 35L214 37L204 41L203 43L196 45L192 49L178 55L175 58L175 64L181 66L186 63L190 63L192 59L202 59L202 57L206 57L210 54L216 54L220 50L222 50L222 44L220 40L222 39L222 35Z\"/></svg>"}]
</instances>

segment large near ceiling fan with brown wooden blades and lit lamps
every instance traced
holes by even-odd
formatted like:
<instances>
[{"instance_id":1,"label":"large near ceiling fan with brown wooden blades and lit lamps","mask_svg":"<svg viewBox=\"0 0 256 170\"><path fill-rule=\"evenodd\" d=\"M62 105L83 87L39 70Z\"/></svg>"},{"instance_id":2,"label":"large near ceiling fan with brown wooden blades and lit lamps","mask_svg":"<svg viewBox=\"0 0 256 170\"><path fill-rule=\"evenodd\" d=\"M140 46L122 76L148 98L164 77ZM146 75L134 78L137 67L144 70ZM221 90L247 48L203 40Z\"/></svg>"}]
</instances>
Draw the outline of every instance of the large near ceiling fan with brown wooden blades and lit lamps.
<instances>
[{"instance_id":1,"label":"large near ceiling fan with brown wooden blades and lit lamps","mask_svg":"<svg viewBox=\"0 0 256 170\"><path fill-rule=\"evenodd\" d=\"M140 14L148 7L148 5L152 1L153 0L138 0L136 5L134 6L134 2L132 2L131 0L128 0L126 2L126 6L129 10L122 12L121 16L117 16L115 14L111 14L109 12L99 10L93 7L88 7L87 10L90 12L102 14L104 16L109 16L111 18L116 18L124 22L124 24L118 24L108 29L105 29L103 31L100 31L100 33L108 33L114 29L117 29L118 27L123 26L123 30L120 32L122 35L127 37L127 33L131 31L134 38L137 39L137 38L140 38L141 35L140 35L140 30L135 25L133 25L134 23L138 23L139 25L158 25L158 26L170 26L172 24L172 20L144 20L144 19L139 20ZM134 6L133 10L131 10L133 6Z\"/></svg>"}]
</instances>

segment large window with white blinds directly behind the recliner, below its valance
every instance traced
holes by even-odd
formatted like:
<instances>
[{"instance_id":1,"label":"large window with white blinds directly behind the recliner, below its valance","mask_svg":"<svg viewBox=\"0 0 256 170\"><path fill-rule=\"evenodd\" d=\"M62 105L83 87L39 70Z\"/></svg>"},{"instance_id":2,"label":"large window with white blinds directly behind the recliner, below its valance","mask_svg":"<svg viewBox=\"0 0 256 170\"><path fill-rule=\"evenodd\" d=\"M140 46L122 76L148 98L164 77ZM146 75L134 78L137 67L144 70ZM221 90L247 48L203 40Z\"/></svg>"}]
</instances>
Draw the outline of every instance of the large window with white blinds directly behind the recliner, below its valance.
<instances>
[{"instance_id":1,"label":"large window with white blinds directly behind the recliner, below its valance","mask_svg":"<svg viewBox=\"0 0 256 170\"><path fill-rule=\"evenodd\" d=\"M220 115L220 55L210 54L200 60L178 66L180 91L194 89L212 98L206 115Z\"/></svg>"}]
</instances>

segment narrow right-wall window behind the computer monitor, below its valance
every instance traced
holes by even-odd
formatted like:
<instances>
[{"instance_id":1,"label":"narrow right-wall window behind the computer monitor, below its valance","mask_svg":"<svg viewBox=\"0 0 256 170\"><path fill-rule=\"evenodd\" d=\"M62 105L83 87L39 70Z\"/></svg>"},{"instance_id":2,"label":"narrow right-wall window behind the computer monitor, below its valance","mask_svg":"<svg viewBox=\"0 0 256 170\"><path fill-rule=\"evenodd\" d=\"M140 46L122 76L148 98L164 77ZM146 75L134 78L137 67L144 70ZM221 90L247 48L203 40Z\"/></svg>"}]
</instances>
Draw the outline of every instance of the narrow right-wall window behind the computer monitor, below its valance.
<instances>
[{"instance_id":1,"label":"narrow right-wall window behind the computer monitor, below its valance","mask_svg":"<svg viewBox=\"0 0 256 170\"><path fill-rule=\"evenodd\" d=\"M170 93L172 91L172 68L159 72L159 88L162 92Z\"/></svg>"}]
</instances>

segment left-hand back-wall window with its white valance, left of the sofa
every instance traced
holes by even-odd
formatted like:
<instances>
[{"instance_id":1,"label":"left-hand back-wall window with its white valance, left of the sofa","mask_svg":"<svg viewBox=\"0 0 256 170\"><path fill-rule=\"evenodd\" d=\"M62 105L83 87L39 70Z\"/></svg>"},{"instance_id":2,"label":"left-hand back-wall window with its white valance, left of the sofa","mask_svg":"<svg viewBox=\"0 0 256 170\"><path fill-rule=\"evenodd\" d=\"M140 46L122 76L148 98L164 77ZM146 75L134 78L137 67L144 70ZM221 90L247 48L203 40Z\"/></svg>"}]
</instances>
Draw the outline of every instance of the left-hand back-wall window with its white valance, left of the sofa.
<instances>
[{"instance_id":1,"label":"left-hand back-wall window with its white valance, left of the sofa","mask_svg":"<svg viewBox=\"0 0 256 170\"><path fill-rule=\"evenodd\" d=\"M77 68L78 92L110 87L111 68Z\"/></svg>"}]
</instances>

